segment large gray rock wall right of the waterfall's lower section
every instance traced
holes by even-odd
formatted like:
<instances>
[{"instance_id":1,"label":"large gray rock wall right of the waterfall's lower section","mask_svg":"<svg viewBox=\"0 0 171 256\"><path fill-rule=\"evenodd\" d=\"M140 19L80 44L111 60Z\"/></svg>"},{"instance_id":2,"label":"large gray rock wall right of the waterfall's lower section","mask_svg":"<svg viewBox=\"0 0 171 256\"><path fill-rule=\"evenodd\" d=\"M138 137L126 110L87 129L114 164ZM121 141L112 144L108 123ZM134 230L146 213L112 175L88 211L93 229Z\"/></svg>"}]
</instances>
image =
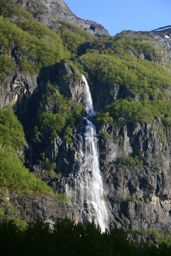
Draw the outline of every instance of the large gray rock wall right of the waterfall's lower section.
<instances>
[{"instance_id":1,"label":"large gray rock wall right of the waterfall's lower section","mask_svg":"<svg viewBox=\"0 0 171 256\"><path fill-rule=\"evenodd\" d=\"M119 133L108 126L101 127L101 131L111 136L109 140L100 137L99 151L112 223L126 228L170 230L170 130L154 122L131 124ZM132 152L143 160L142 166L118 164L117 158Z\"/></svg>"}]
</instances>

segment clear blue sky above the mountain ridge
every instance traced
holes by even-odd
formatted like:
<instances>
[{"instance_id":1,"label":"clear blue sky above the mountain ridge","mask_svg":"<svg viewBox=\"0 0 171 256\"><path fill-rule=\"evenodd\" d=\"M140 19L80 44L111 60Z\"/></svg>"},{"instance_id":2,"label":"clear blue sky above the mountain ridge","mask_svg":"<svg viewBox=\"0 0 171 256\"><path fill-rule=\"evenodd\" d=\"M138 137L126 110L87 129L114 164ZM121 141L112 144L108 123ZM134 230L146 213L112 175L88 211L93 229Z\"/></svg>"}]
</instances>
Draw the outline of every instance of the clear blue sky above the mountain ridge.
<instances>
[{"instance_id":1,"label":"clear blue sky above the mountain ridge","mask_svg":"<svg viewBox=\"0 0 171 256\"><path fill-rule=\"evenodd\" d=\"M110 35L122 30L150 31L171 25L171 0L65 0L84 20L104 26Z\"/></svg>"}]
</instances>

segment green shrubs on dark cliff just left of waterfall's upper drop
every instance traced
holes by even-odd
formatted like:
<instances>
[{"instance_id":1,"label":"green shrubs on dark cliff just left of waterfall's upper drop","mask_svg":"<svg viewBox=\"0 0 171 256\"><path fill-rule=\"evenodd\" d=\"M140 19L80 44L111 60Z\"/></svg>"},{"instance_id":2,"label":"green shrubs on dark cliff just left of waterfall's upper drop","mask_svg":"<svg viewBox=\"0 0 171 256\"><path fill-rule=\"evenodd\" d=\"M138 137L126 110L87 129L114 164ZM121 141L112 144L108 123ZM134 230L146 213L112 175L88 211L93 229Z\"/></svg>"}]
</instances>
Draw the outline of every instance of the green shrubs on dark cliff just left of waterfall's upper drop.
<instances>
[{"instance_id":1,"label":"green shrubs on dark cliff just left of waterfall's upper drop","mask_svg":"<svg viewBox=\"0 0 171 256\"><path fill-rule=\"evenodd\" d=\"M53 129L52 136L55 137L64 129L63 139L70 143L71 126L80 121L82 105L81 103L75 104L73 99L61 95L57 85L48 82L46 88L47 92L43 94L40 103L41 113L38 115L38 131L49 125ZM46 111L46 105L50 106L48 111Z\"/></svg>"}]
</instances>

